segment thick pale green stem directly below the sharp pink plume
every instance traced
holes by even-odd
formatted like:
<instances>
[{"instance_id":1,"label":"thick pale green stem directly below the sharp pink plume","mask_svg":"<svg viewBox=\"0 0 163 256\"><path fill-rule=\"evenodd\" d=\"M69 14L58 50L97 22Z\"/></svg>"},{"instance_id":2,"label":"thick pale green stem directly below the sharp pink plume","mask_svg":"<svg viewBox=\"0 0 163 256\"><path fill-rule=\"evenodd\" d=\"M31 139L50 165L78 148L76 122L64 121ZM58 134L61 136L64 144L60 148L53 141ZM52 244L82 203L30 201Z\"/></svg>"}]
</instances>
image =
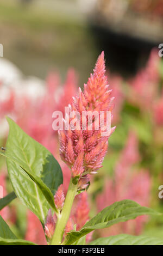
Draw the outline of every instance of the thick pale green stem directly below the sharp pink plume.
<instances>
[{"instance_id":1,"label":"thick pale green stem directly below the sharp pink plume","mask_svg":"<svg viewBox=\"0 0 163 256\"><path fill-rule=\"evenodd\" d=\"M71 179L68 187L68 191L66 194L64 207L61 211L61 214L58 215L57 225L55 227L55 232L52 237L51 245L61 245L64 230L65 230L68 218L70 217L73 200L74 200L74 197L76 196L77 187L78 187L78 182L76 185L74 185Z\"/></svg>"}]
</instances>

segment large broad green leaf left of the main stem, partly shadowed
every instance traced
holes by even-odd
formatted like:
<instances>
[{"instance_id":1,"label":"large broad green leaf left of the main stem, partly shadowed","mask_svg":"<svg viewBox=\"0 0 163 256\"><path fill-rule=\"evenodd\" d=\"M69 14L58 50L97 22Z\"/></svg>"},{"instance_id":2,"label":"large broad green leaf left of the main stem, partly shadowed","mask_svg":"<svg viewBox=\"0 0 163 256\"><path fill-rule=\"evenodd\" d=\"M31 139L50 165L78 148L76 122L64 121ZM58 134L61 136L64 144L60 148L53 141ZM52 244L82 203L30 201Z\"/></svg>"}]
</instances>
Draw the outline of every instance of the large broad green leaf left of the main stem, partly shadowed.
<instances>
[{"instance_id":1,"label":"large broad green leaf left of the main stem, partly shadowed","mask_svg":"<svg viewBox=\"0 0 163 256\"><path fill-rule=\"evenodd\" d=\"M53 195L62 184L62 172L53 155L7 118L9 135L5 153L8 173L16 196L45 221L49 208L55 209Z\"/></svg>"}]
</instances>

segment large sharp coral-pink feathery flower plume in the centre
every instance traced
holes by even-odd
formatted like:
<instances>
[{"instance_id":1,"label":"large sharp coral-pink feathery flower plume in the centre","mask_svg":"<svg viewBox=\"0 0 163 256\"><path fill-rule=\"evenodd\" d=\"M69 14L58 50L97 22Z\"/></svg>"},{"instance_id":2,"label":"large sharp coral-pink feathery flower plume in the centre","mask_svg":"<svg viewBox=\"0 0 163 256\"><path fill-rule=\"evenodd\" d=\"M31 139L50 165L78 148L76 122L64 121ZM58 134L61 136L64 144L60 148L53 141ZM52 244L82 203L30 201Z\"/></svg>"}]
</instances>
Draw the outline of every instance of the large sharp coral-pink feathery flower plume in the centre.
<instances>
[{"instance_id":1,"label":"large sharp coral-pink feathery flower plume in the centre","mask_svg":"<svg viewBox=\"0 0 163 256\"><path fill-rule=\"evenodd\" d=\"M115 130L113 127L108 132L106 126L107 114L109 112L110 116L112 115L112 100L114 100L114 97L111 97L112 90L108 90L108 87L104 52L102 52L93 74L87 84L84 84L84 92L79 88L78 95L73 97L72 105L68 106L70 112L68 129L59 131L60 156L71 168L73 178L95 174L102 167L108 148L108 137ZM83 112L86 115L83 115ZM89 113L92 114L92 126ZM101 113L103 113L102 118L99 115ZM76 126L72 129L74 118L76 118ZM104 131L107 131L105 135L103 135ZM85 181L88 182L87 177ZM83 182L82 186L84 186Z\"/></svg>"}]
</instances>

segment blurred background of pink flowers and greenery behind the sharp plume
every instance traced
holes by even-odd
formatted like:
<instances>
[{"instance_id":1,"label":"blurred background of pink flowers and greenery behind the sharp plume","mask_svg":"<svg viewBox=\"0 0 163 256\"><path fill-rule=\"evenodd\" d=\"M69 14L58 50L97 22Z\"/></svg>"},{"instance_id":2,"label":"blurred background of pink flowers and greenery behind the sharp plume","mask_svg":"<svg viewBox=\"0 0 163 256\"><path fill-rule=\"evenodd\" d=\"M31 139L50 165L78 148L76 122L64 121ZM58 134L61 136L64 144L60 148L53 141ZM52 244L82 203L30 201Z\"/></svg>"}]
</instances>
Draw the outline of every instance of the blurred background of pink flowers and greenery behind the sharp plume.
<instances>
[{"instance_id":1,"label":"blurred background of pink flowers and greenery behind the sharp plume","mask_svg":"<svg viewBox=\"0 0 163 256\"><path fill-rule=\"evenodd\" d=\"M163 212L163 44L162 0L1 0L0 142L5 145L9 115L30 136L45 145L64 172L52 113L64 111L77 88L83 87L104 50L106 72L115 96L104 166L72 212L77 229L117 200ZM12 191L7 167L0 159L0 185ZM77 211L78 209L78 211ZM91 210L90 210L91 209ZM18 237L45 244L39 220L15 199L0 211ZM96 231L87 237L121 233L163 238L163 218L136 220Z\"/></svg>"}]
</instances>

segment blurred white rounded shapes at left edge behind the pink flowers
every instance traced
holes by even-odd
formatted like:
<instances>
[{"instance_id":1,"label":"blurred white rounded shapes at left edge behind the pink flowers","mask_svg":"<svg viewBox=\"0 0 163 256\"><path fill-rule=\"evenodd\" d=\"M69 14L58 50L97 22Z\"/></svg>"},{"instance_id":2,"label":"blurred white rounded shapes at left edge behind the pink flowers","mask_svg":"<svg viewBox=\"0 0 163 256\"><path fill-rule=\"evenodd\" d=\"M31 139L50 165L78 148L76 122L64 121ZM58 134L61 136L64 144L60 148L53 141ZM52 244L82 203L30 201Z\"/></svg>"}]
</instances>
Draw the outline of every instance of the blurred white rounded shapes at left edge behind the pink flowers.
<instances>
[{"instance_id":1,"label":"blurred white rounded shapes at left edge behind the pink flowers","mask_svg":"<svg viewBox=\"0 0 163 256\"><path fill-rule=\"evenodd\" d=\"M3 101L10 97L11 90L17 97L26 95L30 102L36 102L45 95L45 81L37 77L25 77L21 71L9 60L0 59L0 108ZM16 104L16 102L14 102ZM1 109L0 109L1 111ZM15 120L10 113L9 117ZM0 119L0 138L8 132L8 123L5 118Z\"/></svg>"}]
</instances>

